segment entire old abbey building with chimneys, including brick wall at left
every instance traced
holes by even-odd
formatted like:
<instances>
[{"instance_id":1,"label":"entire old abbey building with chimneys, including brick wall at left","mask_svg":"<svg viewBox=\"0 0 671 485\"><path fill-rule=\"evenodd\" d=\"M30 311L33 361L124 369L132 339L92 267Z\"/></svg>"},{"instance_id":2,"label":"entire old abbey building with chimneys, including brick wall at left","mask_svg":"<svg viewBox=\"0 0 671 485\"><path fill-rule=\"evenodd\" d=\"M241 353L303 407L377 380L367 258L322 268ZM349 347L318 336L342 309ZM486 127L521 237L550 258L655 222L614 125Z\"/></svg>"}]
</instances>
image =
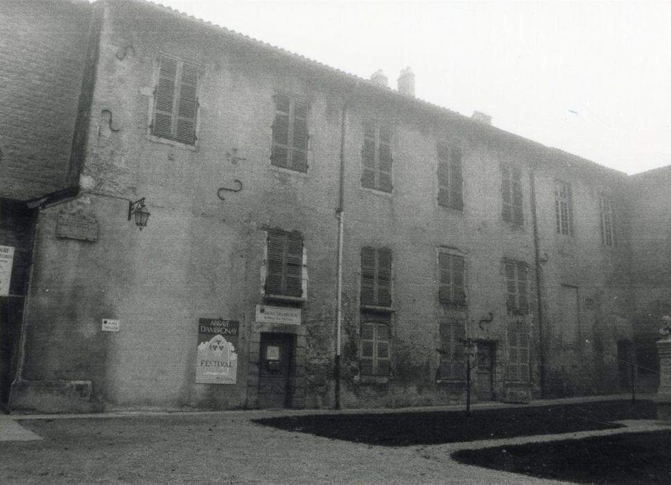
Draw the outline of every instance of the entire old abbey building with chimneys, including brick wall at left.
<instances>
[{"instance_id":1,"label":"entire old abbey building with chimneys, including brick wall at left","mask_svg":"<svg viewBox=\"0 0 671 485\"><path fill-rule=\"evenodd\" d=\"M409 69L141 0L10 4L10 409L457 403L469 364L480 400L629 385L671 303L655 175L430 105Z\"/></svg>"}]
</instances>

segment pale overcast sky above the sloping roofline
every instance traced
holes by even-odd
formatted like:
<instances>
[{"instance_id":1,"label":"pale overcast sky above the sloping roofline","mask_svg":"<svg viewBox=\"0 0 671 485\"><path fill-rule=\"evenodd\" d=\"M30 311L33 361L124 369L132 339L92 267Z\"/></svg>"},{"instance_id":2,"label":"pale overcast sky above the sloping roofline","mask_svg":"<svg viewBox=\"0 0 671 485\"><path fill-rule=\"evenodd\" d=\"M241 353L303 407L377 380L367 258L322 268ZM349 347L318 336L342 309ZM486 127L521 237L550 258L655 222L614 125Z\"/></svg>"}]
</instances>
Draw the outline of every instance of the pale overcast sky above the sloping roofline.
<instances>
[{"instance_id":1,"label":"pale overcast sky above the sloping roofline","mask_svg":"<svg viewBox=\"0 0 671 485\"><path fill-rule=\"evenodd\" d=\"M671 164L671 2L162 0L627 173Z\"/></svg>"}]
</instances>

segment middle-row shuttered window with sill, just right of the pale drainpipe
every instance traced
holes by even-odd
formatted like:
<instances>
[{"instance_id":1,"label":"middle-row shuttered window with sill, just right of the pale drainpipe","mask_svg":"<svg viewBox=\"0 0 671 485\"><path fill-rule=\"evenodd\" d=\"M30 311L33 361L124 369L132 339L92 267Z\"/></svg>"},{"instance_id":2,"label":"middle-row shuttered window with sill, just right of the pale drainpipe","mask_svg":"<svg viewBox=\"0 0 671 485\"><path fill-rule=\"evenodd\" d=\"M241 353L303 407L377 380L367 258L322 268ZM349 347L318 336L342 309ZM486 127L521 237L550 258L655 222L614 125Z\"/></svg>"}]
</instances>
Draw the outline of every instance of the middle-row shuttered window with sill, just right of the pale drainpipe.
<instances>
[{"instance_id":1,"label":"middle-row shuttered window with sill, just right of the pale drainpipe","mask_svg":"<svg viewBox=\"0 0 671 485\"><path fill-rule=\"evenodd\" d=\"M364 247L361 250L361 305L392 306L392 252Z\"/></svg>"}]
</instances>

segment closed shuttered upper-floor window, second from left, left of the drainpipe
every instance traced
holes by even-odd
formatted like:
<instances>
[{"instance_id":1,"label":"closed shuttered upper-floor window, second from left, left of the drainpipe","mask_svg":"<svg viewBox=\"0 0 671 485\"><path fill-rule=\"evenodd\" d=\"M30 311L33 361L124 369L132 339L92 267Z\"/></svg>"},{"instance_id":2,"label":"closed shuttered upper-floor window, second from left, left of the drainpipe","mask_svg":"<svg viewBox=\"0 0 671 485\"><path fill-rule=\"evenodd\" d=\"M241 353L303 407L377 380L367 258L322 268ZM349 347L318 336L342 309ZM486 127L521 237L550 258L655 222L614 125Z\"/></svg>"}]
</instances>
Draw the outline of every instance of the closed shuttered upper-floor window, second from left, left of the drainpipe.
<instances>
[{"instance_id":1,"label":"closed shuttered upper-floor window, second from left, left of the drainpipe","mask_svg":"<svg viewBox=\"0 0 671 485\"><path fill-rule=\"evenodd\" d=\"M299 172L308 170L308 102L275 95L270 163Z\"/></svg>"}]
</instances>

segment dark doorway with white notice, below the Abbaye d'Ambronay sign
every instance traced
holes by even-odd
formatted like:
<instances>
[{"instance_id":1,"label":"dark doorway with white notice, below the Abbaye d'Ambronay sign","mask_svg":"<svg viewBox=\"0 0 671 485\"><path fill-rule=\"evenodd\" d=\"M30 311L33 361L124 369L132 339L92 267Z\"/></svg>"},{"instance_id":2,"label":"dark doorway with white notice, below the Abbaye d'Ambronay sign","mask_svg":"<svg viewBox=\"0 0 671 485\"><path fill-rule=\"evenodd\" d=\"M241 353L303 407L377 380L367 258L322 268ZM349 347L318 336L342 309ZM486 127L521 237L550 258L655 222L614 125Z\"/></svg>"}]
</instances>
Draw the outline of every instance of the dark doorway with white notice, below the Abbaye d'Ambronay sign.
<instances>
[{"instance_id":1,"label":"dark doorway with white notice, below the Abbaye d'Ambronay sign","mask_svg":"<svg viewBox=\"0 0 671 485\"><path fill-rule=\"evenodd\" d=\"M261 333L259 407L291 407L296 336Z\"/></svg>"}]
</instances>

